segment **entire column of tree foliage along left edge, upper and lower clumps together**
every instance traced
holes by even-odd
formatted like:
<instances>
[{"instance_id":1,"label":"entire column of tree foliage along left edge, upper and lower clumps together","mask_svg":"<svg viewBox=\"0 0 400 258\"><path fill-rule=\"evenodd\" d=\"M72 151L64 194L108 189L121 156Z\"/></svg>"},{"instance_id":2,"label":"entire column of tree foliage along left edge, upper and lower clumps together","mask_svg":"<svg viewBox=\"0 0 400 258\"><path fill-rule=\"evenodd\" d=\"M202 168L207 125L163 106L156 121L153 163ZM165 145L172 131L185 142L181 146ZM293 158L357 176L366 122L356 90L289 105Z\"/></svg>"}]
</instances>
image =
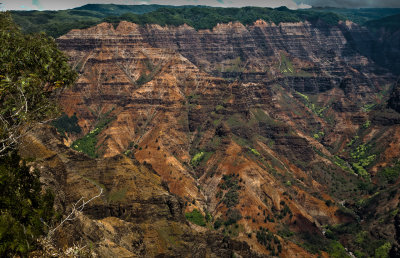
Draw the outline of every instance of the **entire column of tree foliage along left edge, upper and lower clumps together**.
<instances>
[{"instance_id":1,"label":"entire column of tree foliage along left edge, upper and lower clumps together","mask_svg":"<svg viewBox=\"0 0 400 258\"><path fill-rule=\"evenodd\" d=\"M0 12L0 256L26 255L54 217L53 195L17 154L20 138L58 114L54 94L76 73L45 34L24 35Z\"/></svg>"}]
</instances>

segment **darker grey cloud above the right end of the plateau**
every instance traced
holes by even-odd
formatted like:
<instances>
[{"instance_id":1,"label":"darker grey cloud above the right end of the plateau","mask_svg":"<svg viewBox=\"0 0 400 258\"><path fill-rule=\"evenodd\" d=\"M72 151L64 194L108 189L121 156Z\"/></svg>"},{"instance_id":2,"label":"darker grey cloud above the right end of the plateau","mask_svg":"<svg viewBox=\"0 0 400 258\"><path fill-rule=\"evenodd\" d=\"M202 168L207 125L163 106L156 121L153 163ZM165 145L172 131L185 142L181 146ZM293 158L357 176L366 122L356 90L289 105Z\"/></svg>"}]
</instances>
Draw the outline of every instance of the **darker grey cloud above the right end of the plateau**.
<instances>
[{"instance_id":1,"label":"darker grey cloud above the right end of the plateau","mask_svg":"<svg viewBox=\"0 0 400 258\"><path fill-rule=\"evenodd\" d=\"M296 3L305 3L315 7L341 7L341 8L400 8L399 0L294 0Z\"/></svg>"}]
</instances>

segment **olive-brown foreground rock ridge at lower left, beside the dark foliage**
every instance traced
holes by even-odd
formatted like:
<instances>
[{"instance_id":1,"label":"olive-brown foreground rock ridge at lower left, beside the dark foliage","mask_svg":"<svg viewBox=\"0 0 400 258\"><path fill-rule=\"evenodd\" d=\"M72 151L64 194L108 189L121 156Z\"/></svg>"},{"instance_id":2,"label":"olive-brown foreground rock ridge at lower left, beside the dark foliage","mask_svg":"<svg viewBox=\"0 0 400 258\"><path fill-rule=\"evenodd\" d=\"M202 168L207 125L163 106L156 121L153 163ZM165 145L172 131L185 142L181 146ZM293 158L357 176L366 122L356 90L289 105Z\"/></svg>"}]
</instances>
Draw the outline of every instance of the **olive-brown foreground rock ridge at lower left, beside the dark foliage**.
<instances>
[{"instance_id":1,"label":"olive-brown foreground rock ridge at lower left, beside the dark foliage","mask_svg":"<svg viewBox=\"0 0 400 258\"><path fill-rule=\"evenodd\" d=\"M193 231L182 200L165 189L150 166L123 155L90 159L55 134L54 128L38 128L25 138L21 154L36 160L42 181L56 193L58 211L67 214L80 198L87 201L104 190L55 231L59 246L84 241L100 257L258 257L246 243Z\"/></svg>"}]
</instances>

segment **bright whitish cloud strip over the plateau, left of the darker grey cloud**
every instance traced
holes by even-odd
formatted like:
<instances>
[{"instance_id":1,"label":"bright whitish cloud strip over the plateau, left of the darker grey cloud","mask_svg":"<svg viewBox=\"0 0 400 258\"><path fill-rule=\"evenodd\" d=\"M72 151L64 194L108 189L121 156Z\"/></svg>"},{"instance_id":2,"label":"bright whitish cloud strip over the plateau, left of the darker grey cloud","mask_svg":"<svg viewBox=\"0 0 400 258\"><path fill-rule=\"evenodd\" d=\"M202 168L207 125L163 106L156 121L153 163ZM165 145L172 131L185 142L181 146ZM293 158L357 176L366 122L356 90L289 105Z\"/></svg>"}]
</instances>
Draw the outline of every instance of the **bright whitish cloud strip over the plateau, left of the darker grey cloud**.
<instances>
[{"instance_id":1,"label":"bright whitish cloud strip over the plateau, left of the darker grey cloud","mask_svg":"<svg viewBox=\"0 0 400 258\"><path fill-rule=\"evenodd\" d=\"M306 4L297 4L293 0L3 0L3 2L3 8L6 10L62 10L95 3L208 5L215 7L260 6L273 8L287 6L290 9L310 7Z\"/></svg>"}]
</instances>

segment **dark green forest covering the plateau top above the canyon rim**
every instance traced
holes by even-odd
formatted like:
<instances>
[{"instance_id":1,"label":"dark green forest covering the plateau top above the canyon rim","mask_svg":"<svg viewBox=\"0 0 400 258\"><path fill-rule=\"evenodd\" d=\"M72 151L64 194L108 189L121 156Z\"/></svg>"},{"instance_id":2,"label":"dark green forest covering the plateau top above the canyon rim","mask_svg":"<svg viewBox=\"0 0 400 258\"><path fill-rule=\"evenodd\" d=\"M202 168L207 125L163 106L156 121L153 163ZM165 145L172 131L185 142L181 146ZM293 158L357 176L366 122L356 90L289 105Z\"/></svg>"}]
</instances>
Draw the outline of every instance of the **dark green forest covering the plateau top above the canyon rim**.
<instances>
[{"instance_id":1,"label":"dark green forest covering the plateau top above the canyon rim","mask_svg":"<svg viewBox=\"0 0 400 258\"><path fill-rule=\"evenodd\" d=\"M311 21L327 25L339 20L352 20L364 24L400 13L400 9L336 9L312 8L289 10L286 7L261 8L217 8L206 6L163 6L163 5L103 5L91 4L61 11L13 11L15 22L24 32L44 31L59 37L71 29L83 29L101 22L117 24L122 20L138 24L182 25L195 29L211 29L218 23L239 21L251 24L258 19L279 24L281 22Z\"/></svg>"}]
</instances>

